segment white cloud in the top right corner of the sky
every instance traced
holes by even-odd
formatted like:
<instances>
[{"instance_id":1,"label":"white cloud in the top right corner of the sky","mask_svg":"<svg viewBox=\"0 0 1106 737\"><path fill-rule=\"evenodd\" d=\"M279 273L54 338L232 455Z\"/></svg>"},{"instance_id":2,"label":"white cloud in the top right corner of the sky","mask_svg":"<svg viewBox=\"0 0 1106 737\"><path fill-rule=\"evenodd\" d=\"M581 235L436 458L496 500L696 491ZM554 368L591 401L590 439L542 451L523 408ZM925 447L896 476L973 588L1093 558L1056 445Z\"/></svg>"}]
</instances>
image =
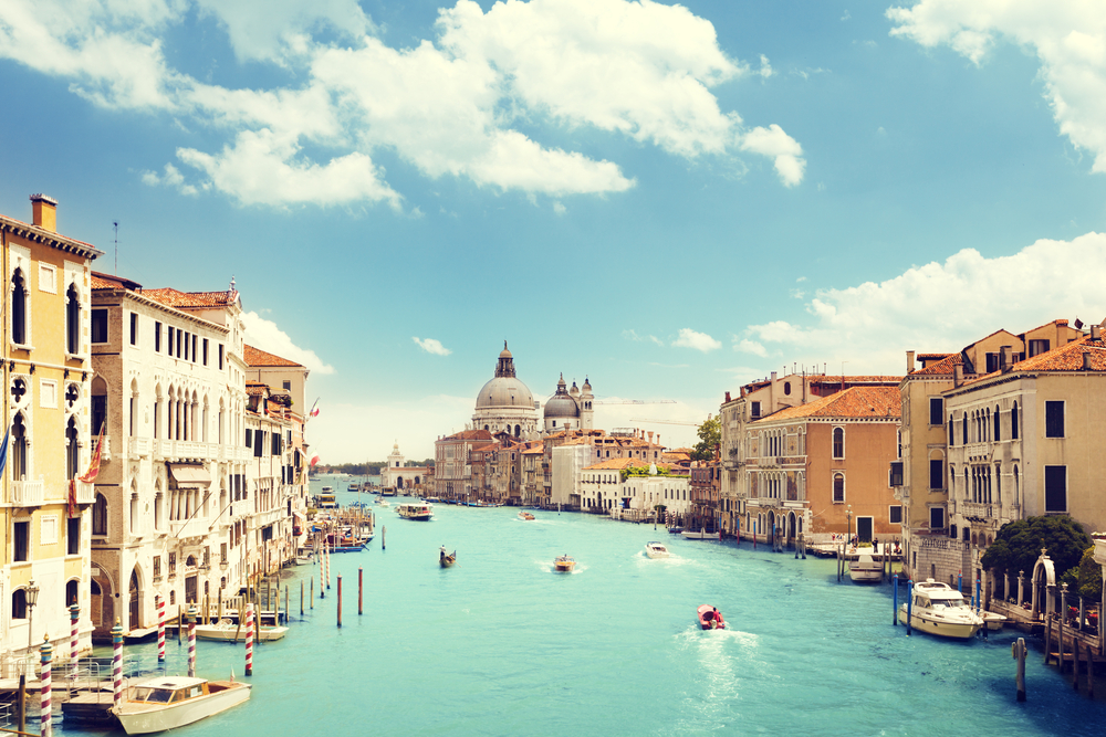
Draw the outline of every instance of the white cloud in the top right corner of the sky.
<instances>
[{"instance_id":1,"label":"white cloud in the top right corner of the sky","mask_svg":"<svg viewBox=\"0 0 1106 737\"><path fill-rule=\"evenodd\" d=\"M1106 12L1099 0L922 0L890 8L899 35L947 44L980 64L1000 38L1036 53L1053 116L1076 148L1106 172Z\"/></svg>"}]
</instances>

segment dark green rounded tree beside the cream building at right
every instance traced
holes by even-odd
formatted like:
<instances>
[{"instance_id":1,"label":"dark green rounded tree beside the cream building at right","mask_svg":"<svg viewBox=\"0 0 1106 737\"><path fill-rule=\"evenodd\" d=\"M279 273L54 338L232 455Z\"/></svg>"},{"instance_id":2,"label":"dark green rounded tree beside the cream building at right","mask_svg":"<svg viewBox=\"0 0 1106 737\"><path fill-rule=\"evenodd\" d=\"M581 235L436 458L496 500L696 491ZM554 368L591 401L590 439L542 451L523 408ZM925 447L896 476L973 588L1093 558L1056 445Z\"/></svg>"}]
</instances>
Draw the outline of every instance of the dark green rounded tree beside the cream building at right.
<instances>
[{"instance_id":1,"label":"dark green rounded tree beside the cream building at right","mask_svg":"<svg viewBox=\"0 0 1106 737\"><path fill-rule=\"evenodd\" d=\"M1041 548L1047 548L1060 581L1079 565L1091 546L1091 536L1071 517L1030 517L1003 525L980 562L1000 573L1018 576L1024 570L1029 576Z\"/></svg>"}]
</instances>

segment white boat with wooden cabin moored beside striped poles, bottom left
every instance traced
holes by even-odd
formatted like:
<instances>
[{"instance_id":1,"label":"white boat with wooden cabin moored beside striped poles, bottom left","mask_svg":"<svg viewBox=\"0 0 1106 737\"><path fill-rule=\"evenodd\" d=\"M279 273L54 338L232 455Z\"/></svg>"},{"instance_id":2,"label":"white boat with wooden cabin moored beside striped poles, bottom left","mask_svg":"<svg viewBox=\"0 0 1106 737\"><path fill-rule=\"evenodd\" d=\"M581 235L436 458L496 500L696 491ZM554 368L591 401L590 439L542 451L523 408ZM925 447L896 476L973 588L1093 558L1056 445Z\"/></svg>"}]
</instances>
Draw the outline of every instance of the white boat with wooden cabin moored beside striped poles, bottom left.
<instances>
[{"instance_id":1,"label":"white boat with wooden cabin moored beside striped poles, bottom left","mask_svg":"<svg viewBox=\"0 0 1106 737\"><path fill-rule=\"evenodd\" d=\"M250 684L184 676L159 677L127 689L112 707L128 735L148 735L199 722L250 697Z\"/></svg>"}]
</instances>

